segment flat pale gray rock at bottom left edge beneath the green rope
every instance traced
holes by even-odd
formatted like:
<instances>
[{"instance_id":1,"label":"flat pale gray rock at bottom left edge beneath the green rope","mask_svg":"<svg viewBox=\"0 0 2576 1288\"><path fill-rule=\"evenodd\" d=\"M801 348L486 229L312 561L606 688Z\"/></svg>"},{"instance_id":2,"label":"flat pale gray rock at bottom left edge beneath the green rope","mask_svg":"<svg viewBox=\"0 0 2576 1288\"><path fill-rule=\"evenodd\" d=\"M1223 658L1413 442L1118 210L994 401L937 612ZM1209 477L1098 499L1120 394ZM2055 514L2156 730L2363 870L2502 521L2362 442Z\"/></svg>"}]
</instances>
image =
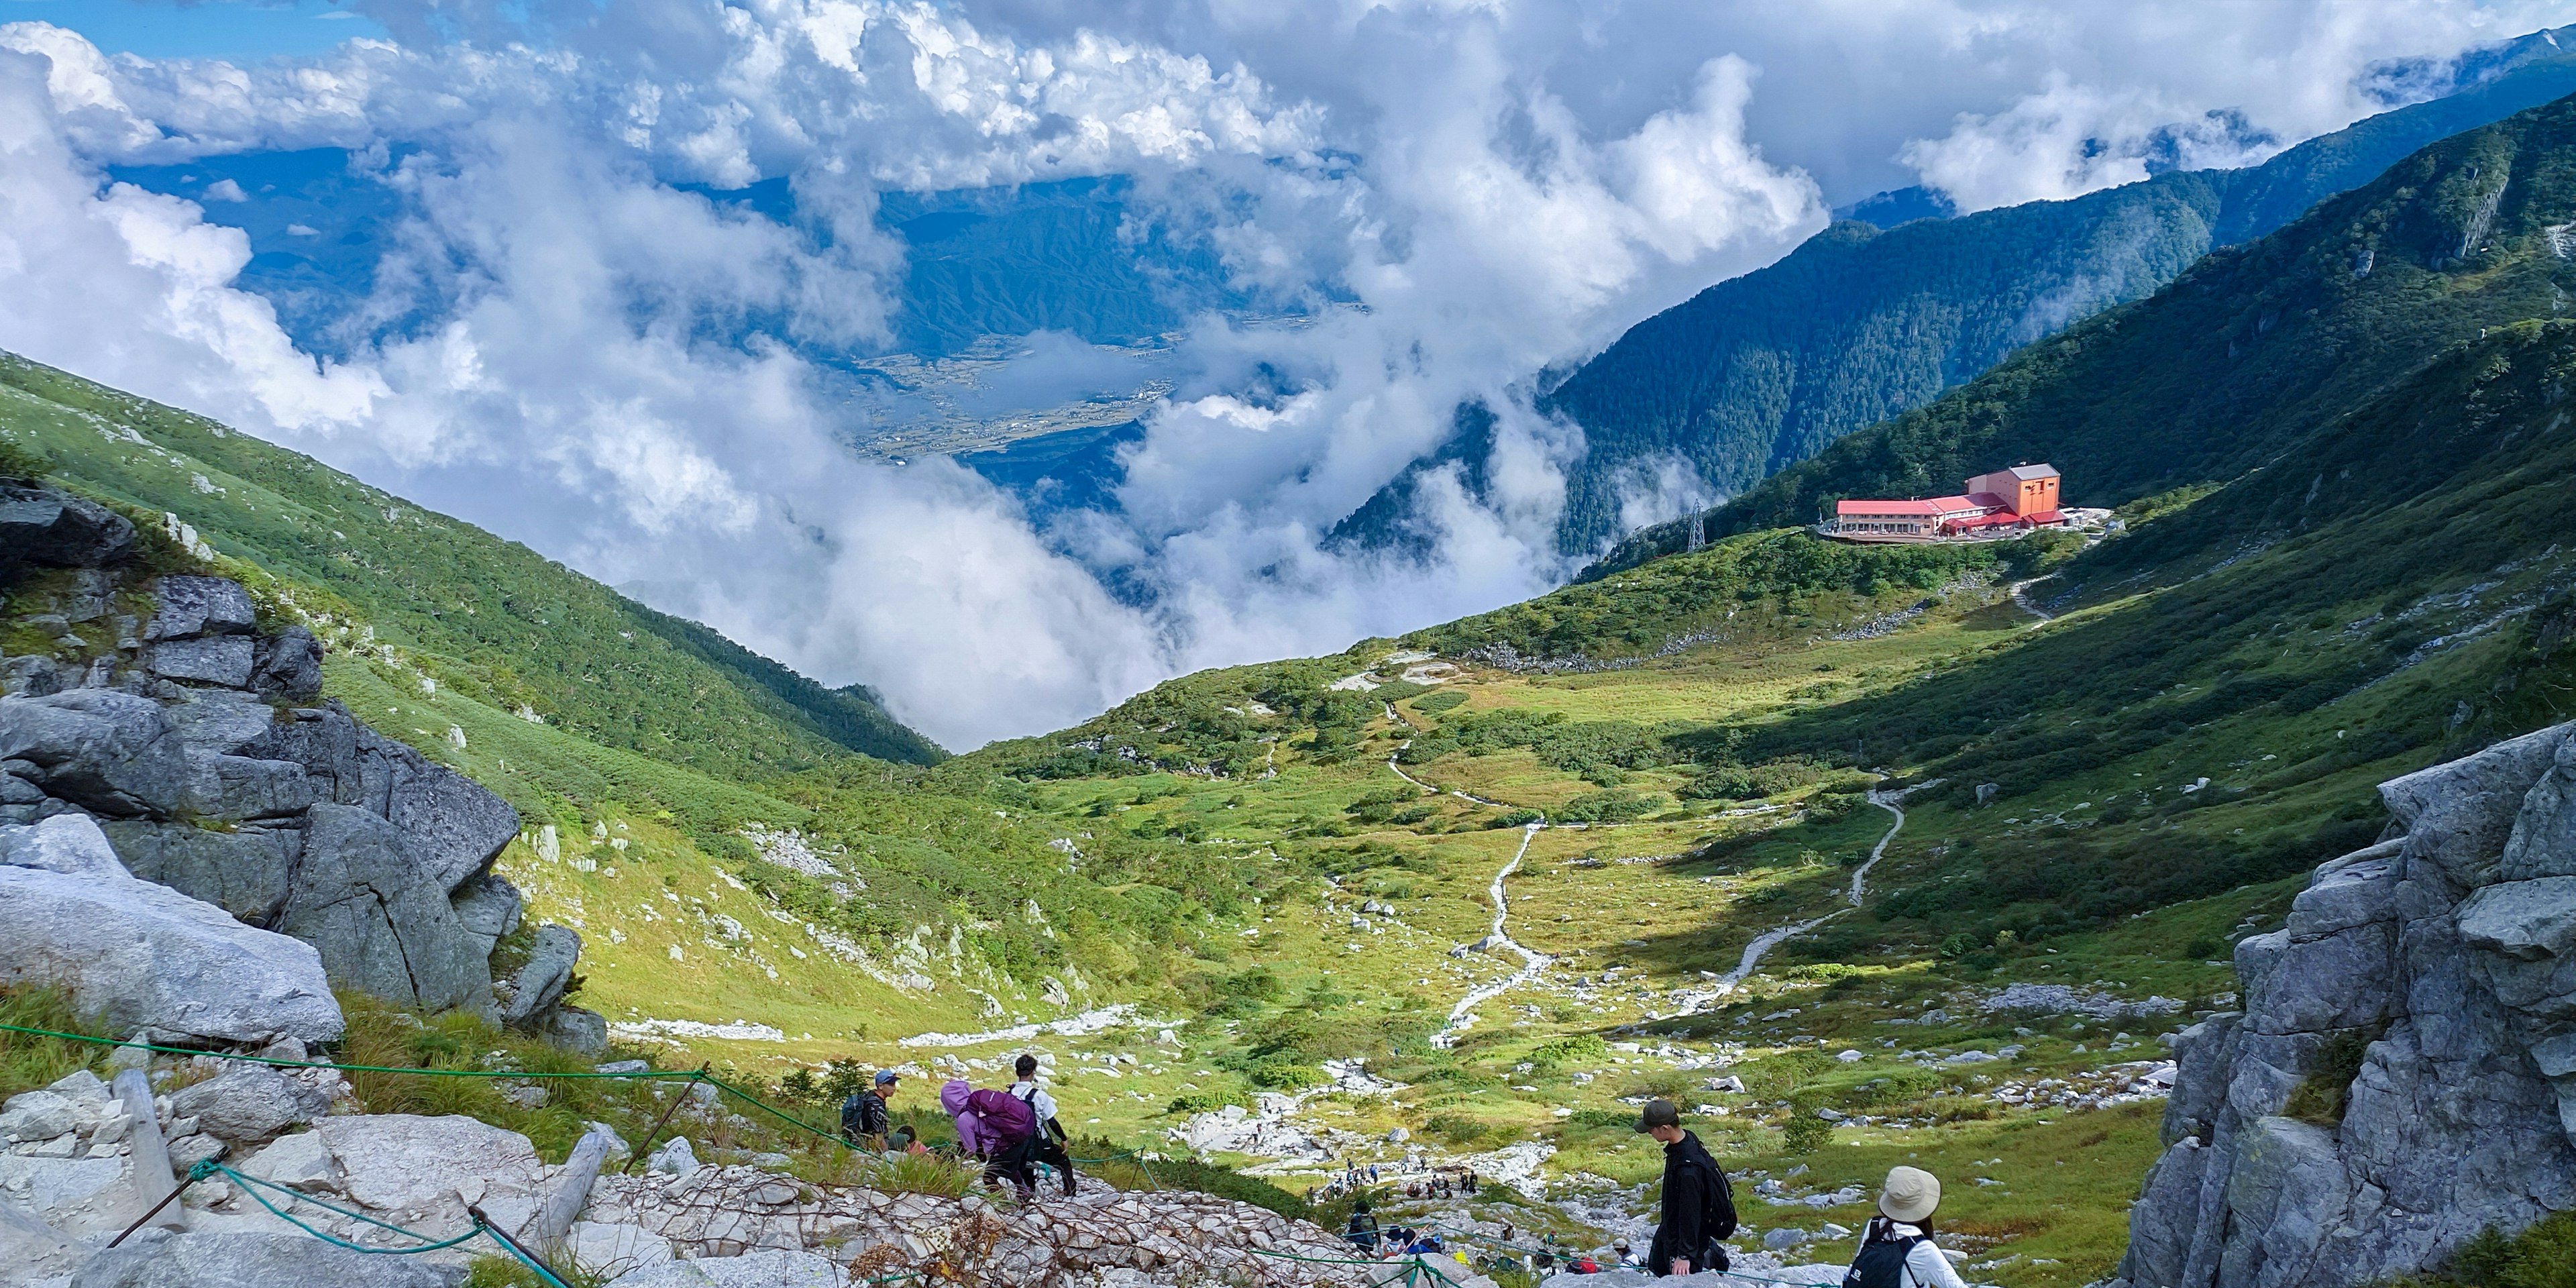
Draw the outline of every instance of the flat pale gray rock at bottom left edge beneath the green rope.
<instances>
[{"instance_id":1,"label":"flat pale gray rock at bottom left edge beneath the green rope","mask_svg":"<svg viewBox=\"0 0 2576 1288\"><path fill-rule=\"evenodd\" d=\"M464 1265L350 1252L299 1231L142 1231L90 1257L70 1288L456 1288L464 1280Z\"/></svg>"}]
</instances>

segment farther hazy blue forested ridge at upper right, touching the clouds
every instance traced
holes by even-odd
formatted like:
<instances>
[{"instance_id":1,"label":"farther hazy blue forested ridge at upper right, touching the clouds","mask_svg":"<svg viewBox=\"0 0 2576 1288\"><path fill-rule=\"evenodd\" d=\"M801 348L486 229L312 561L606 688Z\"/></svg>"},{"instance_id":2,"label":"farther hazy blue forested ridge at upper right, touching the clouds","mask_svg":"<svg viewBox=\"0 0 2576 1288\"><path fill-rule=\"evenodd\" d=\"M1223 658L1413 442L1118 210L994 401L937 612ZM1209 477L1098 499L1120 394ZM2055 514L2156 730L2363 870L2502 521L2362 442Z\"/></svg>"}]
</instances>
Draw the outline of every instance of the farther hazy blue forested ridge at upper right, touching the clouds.
<instances>
[{"instance_id":1,"label":"farther hazy blue forested ridge at upper right, touching the clouds","mask_svg":"<svg viewBox=\"0 0 2576 1288\"><path fill-rule=\"evenodd\" d=\"M1680 456L1710 489L1739 495L2020 345L2154 294L2202 252L2267 234L2434 139L2571 90L2576 57L2550 57L2251 170L2166 173L1886 232L1834 224L1785 260L1638 322L1543 399L1589 446L1569 479L1561 549L1618 536L1620 487L1641 461Z\"/></svg>"}]
</instances>

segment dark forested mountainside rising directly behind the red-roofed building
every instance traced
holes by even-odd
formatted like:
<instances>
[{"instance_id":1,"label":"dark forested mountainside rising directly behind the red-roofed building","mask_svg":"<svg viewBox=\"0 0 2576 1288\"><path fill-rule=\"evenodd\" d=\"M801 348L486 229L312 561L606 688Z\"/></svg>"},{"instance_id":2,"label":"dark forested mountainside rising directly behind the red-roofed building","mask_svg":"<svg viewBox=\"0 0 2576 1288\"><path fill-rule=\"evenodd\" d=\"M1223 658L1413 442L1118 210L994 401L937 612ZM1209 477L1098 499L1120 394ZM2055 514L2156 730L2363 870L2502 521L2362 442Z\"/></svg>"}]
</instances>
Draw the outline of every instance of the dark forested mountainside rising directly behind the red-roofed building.
<instances>
[{"instance_id":1,"label":"dark forested mountainside rising directly behind the red-roofed building","mask_svg":"<svg viewBox=\"0 0 2576 1288\"><path fill-rule=\"evenodd\" d=\"M2445 348L2561 314L2571 222L2576 100L2558 100L2442 139L2154 299L1839 438L1713 510L1708 531L1811 523L1834 497L1922 495L1994 461L2053 461L2074 505L2239 479ZM1685 541L1682 523L1641 531L1587 577Z\"/></svg>"}]
</instances>

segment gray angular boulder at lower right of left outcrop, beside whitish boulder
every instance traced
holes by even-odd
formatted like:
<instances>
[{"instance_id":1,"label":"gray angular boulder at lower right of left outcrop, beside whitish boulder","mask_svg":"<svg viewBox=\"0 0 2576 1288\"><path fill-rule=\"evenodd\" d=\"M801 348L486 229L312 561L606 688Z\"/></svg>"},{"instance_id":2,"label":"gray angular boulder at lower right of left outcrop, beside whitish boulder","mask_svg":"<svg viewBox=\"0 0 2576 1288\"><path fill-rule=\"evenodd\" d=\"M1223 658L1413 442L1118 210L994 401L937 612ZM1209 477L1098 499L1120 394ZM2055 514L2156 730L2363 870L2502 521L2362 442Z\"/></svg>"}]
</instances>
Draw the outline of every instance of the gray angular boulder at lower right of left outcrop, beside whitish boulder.
<instances>
[{"instance_id":1,"label":"gray angular boulder at lower right of left outcrop, beside whitish boulder","mask_svg":"<svg viewBox=\"0 0 2576 1288\"><path fill-rule=\"evenodd\" d=\"M430 1010L489 1007L492 963L448 886L381 817L343 804L307 814L304 858L276 927L322 953L332 979Z\"/></svg>"}]
</instances>

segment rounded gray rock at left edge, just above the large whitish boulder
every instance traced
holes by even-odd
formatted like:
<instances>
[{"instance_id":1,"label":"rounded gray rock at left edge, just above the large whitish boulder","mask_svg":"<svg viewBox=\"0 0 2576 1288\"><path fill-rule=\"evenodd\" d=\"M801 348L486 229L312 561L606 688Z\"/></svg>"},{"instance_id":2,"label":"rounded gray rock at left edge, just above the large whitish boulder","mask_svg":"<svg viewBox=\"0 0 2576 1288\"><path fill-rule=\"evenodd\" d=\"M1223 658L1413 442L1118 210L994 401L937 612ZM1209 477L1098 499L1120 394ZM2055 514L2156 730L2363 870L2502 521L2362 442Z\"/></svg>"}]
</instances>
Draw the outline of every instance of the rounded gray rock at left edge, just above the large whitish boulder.
<instances>
[{"instance_id":1,"label":"rounded gray rock at left edge, just above the large whitish boulder","mask_svg":"<svg viewBox=\"0 0 2576 1288\"><path fill-rule=\"evenodd\" d=\"M188 801L188 760L160 703L106 688L0 698L0 760L93 814L167 817Z\"/></svg>"}]
</instances>

